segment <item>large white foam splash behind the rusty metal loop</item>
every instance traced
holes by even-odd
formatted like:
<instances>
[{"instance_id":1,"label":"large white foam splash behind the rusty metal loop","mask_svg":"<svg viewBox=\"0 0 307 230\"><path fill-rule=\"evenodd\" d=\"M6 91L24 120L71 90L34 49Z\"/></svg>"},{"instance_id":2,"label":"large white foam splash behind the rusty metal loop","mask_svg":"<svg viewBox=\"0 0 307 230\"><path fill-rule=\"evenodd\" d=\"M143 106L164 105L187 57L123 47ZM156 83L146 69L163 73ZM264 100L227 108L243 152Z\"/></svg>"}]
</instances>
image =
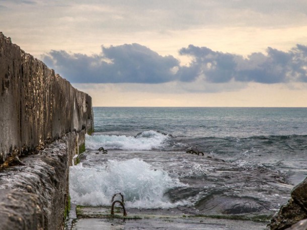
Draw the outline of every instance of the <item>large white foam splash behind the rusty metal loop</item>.
<instances>
[{"instance_id":1,"label":"large white foam splash behind the rusty metal loop","mask_svg":"<svg viewBox=\"0 0 307 230\"><path fill-rule=\"evenodd\" d=\"M113 194L121 192L127 207L169 208L188 203L171 203L164 193L186 186L166 171L151 169L139 159L108 161L97 167L70 167L70 196L82 205L110 205Z\"/></svg>"}]
</instances>

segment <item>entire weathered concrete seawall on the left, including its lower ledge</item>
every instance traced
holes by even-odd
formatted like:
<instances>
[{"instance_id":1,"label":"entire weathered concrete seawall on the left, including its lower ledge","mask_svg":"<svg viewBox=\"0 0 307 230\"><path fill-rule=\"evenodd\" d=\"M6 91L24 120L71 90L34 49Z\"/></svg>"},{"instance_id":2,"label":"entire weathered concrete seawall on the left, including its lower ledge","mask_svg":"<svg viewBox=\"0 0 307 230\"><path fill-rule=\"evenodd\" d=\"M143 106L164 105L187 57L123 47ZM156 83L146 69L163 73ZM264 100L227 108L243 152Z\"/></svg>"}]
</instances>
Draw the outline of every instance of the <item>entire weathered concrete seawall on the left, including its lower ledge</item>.
<instances>
[{"instance_id":1,"label":"entire weathered concrete seawall on the left, including its lower ledge","mask_svg":"<svg viewBox=\"0 0 307 230\"><path fill-rule=\"evenodd\" d=\"M0 228L62 229L92 98L0 33Z\"/></svg>"}]
</instances>

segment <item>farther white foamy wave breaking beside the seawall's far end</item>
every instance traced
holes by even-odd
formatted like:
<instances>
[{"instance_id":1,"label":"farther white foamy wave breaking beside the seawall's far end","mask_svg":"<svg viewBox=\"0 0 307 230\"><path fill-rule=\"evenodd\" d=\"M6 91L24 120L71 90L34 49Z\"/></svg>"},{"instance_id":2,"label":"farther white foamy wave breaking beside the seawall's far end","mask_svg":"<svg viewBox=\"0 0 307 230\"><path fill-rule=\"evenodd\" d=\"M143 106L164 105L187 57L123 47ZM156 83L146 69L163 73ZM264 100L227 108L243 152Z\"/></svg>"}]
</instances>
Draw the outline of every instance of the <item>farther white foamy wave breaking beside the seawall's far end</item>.
<instances>
[{"instance_id":1,"label":"farther white foamy wave breaking beside the seawall's far end","mask_svg":"<svg viewBox=\"0 0 307 230\"><path fill-rule=\"evenodd\" d=\"M145 131L132 136L109 136L109 135L93 135L86 136L86 148L97 150L100 147L105 149L121 149L121 150L151 150L166 145L168 135L158 133L156 131Z\"/></svg>"}]
</instances>

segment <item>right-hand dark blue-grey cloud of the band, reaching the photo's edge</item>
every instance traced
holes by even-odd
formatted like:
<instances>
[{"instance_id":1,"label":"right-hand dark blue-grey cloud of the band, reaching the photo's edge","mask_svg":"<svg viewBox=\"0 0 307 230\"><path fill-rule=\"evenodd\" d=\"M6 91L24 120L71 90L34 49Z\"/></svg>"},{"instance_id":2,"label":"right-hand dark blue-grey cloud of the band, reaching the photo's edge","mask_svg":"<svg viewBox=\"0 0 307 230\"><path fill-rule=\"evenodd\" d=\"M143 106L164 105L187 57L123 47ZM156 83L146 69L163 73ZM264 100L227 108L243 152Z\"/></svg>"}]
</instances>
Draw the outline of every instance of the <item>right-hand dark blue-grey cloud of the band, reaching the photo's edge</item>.
<instances>
[{"instance_id":1,"label":"right-hand dark blue-grey cloud of the band, reaching the photo's edge","mask_svg":"<svg viewBox=\"0 0 307 230\"><path fill-rule=\"evenodd\" d=\"M289 52L269 47L266 55L253 53L248 58L193 45L182 48L179 52L193 57L189 69L203 74L206 81L212 83L231 80L259 83L306 81L307 46L297 45ZM182 80L193 80L196 77L193 74L180 76Z\"/></svg>"}]
</instances>

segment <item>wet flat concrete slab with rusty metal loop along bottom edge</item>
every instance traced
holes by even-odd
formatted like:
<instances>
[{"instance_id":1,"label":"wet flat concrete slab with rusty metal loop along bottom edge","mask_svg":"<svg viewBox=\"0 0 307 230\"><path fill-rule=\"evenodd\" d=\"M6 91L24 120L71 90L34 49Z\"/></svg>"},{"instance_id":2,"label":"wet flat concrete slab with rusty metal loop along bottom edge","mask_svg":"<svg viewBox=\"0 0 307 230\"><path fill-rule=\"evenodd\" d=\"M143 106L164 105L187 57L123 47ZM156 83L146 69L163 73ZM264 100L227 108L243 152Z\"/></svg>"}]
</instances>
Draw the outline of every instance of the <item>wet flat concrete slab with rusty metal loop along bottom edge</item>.
<instances>
[{"instance_id":1,"label":"wet flat concrete slab with rusty metal loop along bottom edge","mask_svg":"<svg viewBox=\"0 0 307 230\"><path fill-rule=\"evenodd\" d=\"M267 222L210 218L185 214L178 209L128 209L123 216L122 210L110 215L111 207L76 207L76 217L71 223L71 230L101 229L266 229Z\"/></svg>"}]
</instances>

